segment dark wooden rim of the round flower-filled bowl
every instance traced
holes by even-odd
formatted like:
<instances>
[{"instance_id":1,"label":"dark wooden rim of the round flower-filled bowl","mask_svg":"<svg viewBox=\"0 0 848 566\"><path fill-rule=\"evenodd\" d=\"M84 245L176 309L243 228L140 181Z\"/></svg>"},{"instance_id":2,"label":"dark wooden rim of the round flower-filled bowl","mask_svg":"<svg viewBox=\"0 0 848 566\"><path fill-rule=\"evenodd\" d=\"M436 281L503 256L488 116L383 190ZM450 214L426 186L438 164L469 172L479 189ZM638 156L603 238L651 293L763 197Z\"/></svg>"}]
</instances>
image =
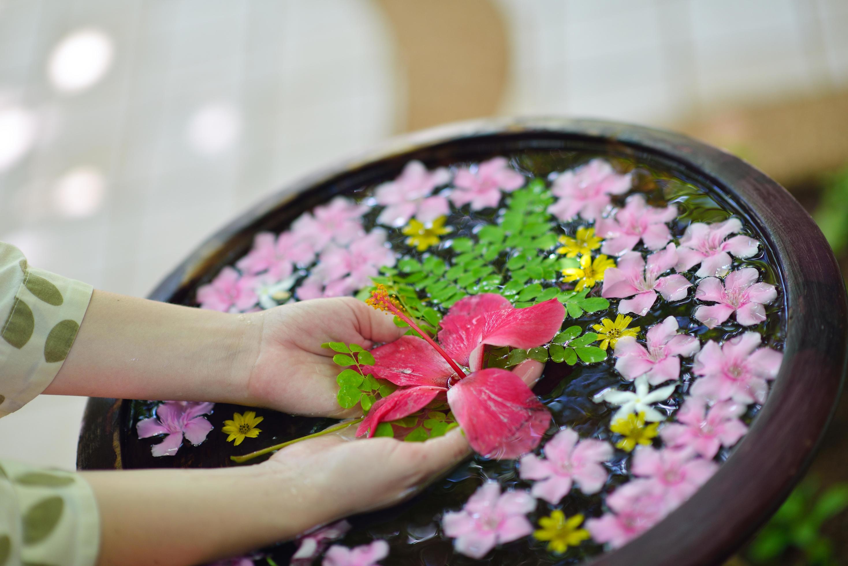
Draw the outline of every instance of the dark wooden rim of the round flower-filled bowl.
<instances>
[{"instance_id":1,"label":"dark wooden rim of the round flower-filled bowl","mask_svg":"<svg viewBox=\"0 0 848 566\"><path fill-rule=\"evenodd\" d=\"M279 232L338 193L395 176L408 160L481 160L521 149L591 149L628 155L695 178L734 201L767 239L787 309L784 362L749 434L718 473L675 512L593 564L721 563L783 502L800 479L840 394L848 341L845 283L823 234L784 188L720 149L678 134L594 120L485 120L392 140L265 199L214 236L150 294L191 304L193 291L246 254L254 233ZM122 468L125 401L88 402L81 469Z\"/></svg>"}]
</instances>

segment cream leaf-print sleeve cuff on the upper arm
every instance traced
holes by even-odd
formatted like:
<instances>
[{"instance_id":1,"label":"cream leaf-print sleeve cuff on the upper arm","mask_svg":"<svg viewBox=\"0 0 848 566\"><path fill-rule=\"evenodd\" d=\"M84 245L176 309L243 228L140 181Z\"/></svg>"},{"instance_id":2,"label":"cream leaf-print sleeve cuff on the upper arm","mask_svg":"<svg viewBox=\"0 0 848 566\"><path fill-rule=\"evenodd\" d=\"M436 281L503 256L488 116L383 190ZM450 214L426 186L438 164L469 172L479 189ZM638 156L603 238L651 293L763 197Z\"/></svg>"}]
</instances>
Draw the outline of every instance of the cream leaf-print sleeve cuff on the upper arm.
<instances>
[{"instance_id":1,"label":"cream leaf-print sleeve cuff on the upper arm","mask_svg":"<svg viewBox=\"0 0 848 566\"><path fill-rule=\"evenodd\" d=\"M91 285L30 267L0 242L0 417L47 389L91 298Z\"/></svg>"}]
</instances>

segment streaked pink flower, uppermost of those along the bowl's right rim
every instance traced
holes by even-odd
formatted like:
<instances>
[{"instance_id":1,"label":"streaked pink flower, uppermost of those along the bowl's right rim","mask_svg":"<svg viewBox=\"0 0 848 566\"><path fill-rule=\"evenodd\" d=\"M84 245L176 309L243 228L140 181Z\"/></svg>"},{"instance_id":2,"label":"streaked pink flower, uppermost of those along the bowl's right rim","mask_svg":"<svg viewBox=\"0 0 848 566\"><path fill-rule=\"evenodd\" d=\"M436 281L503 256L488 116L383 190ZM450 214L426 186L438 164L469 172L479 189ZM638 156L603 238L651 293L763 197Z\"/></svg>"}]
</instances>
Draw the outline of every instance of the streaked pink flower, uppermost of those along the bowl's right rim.
<instances>
[{"instance_id":1,"label":"streaked pink flower, uppermost of those along the bowl's right rim","mask_svg":"<svg viewBox=\"0 0 848 566\"><path fill-rule=\"evenodd\" d=\"M756 254L760 244L748 236L734 236L742 229L738 218L730 218L723 222L704 224L693 222L686 228L683 238L680 238L678 248L678 272L686 272L700 263L695 275L698 277L722 277L730 269L733 261L730 255L747 258Z\"/></svg>"}]
</instances>

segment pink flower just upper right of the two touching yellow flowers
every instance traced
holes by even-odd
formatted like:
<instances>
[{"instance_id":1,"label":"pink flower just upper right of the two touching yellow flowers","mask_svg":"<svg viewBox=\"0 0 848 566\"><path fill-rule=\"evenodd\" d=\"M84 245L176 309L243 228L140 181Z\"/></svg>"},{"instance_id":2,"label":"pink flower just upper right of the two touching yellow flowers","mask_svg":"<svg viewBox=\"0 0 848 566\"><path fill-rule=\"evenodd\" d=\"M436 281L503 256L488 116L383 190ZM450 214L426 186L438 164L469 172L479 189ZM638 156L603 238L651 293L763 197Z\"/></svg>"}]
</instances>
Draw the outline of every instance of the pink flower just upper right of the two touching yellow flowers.
<instances>
[{"instance_id":1,"label":"pink flower just upper right of the two touching yellow flowers","mask_svg":"<svg viewBox=\"0 0 848 566\"><path fill-rule=\"evenodd\" d=\"M677 216L676 206L654 208L645 204L641 194L633 194L615 217L598 219L595 233L606 238L600 251L606 255L622 255L639 244L639 240L647 249L664 248L672 239L666 222Z\"/></svg>"}]
</instances>

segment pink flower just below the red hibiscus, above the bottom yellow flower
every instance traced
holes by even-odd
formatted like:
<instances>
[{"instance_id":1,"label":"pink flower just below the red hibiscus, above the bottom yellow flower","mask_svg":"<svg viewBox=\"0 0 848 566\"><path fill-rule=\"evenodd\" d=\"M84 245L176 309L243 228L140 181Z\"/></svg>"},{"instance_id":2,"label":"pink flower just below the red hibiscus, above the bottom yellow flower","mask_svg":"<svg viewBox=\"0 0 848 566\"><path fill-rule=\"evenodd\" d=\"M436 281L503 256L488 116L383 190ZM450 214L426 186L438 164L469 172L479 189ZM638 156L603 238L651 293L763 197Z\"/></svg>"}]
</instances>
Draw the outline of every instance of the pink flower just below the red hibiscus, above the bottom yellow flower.
<instances>
[{"instance_id":1,"label":"pink flower just below the red hibiscus, above the bottom yellow flower","mask_svg":"<svg viewBox=\"0 0 848 566\"><path fill-rule=\"evenodd\" d=\"M553 505L561 502L572 482L589 495L600 491L607 472L602 465L612 457L612 446L601 440L580 440L572 429L562 429L544 445L544 457L522 457L522 479L536 479L531 493Z\"/></svg>"}]
</instances>

